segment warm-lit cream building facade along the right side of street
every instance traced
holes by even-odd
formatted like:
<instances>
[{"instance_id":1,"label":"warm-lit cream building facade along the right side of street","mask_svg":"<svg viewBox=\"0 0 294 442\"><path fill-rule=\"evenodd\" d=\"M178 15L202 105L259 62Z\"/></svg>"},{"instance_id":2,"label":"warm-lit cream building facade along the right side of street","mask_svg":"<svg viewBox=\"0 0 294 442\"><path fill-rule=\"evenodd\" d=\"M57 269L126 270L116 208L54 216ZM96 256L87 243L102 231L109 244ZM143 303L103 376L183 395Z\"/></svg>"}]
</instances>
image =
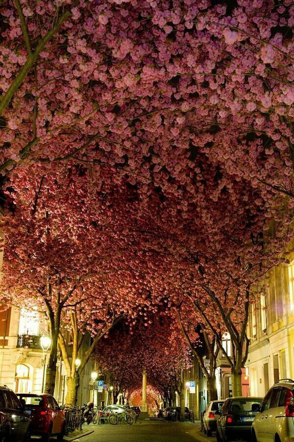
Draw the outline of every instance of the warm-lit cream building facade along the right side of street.
<instances>
[{"instance_id":1,"label":"warm-lit cream building facade along the right side of street","mask_svg":"<svg viewBox=\"0 0 294 442\"><path fill-rule=\"evenodd\" d=\"M270 270L250 306L246 369L250 394L264 396L275 382L294 378L294 256Z\"/></svg>"}]
</instances>

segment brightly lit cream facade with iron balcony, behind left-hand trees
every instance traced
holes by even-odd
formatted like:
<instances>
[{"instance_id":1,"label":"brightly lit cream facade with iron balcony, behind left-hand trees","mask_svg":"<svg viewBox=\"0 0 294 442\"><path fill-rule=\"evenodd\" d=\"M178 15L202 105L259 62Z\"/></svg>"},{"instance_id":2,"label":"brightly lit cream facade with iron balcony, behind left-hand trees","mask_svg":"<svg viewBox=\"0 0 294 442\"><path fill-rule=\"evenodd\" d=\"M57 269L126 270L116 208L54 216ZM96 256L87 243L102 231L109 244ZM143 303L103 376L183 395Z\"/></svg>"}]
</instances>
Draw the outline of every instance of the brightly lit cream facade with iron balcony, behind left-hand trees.
<instances>
[{"instance_id":1,"label":"brightly lit cream facade with iron balcony, behind left-hand trees","mask_svg":"<svg viewBox=\"0 0 294 442\"><path fill-rule=\"evenodd\" d=\"M27 310L14 305L0 311L0 383L16 392L41 393L46 373L45 356L40 338L48 333L47 321L37 308ZM90 345L86 336L80 352ZM90 359L80 377L78 403L93 400L91 372L94 362ZM54 397L64 404L66 397L66 370L61 356L57 361Z\"/></svg>"}]
</instances>

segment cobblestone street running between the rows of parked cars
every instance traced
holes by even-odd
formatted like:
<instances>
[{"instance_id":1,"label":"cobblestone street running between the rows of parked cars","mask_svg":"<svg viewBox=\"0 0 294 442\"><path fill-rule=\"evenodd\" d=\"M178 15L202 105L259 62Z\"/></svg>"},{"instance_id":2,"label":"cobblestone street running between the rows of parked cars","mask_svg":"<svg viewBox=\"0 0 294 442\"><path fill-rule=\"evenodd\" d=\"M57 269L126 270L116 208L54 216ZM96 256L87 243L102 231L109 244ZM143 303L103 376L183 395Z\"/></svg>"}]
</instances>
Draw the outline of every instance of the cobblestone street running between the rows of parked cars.
<instances>
[{"instance_id":1,"label":"cobblestone street running between the rows of parked cars","mask_svg":"<svg viewBox=\"0 0 294 442\"><path fill-rule=\"evenodd\" d=\"M190 422L143 421L135 425L89 425L94 433L75 442L215 442ZM198 436L199 435L199 436Z\"/></svg>"}]
</instances>

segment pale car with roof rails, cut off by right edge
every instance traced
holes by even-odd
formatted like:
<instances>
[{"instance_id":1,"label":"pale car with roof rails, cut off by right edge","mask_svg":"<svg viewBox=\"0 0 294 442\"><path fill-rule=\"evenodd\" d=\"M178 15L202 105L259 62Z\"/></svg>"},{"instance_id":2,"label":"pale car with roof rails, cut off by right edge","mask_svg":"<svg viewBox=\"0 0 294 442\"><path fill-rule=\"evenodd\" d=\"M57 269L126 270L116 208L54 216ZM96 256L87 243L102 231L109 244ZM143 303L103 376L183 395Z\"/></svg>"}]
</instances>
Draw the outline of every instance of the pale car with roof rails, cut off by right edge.
<instances>
[{"instance_id":1,"label":"pale car with roof rails, cut off by right edge","mask_svg":"<svg viewBox=\"0 0 294 442\"><path fill-rule=\"evenodd\" d=\"M294 441L294 380L281 379L269 389L251 433L253 442Z\"/></svg>"}]
</instances>

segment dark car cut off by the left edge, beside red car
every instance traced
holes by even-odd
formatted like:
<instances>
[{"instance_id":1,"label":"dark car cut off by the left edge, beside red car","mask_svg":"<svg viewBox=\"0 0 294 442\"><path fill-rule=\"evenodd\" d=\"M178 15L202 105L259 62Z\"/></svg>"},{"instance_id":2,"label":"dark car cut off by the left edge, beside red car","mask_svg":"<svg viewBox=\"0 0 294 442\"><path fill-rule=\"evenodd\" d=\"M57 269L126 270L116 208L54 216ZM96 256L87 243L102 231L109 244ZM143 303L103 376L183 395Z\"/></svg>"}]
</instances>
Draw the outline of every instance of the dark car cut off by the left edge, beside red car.
<instances>
[{"instance_id":1,"label":"dark car cut off by the left edge, beside red car","mask_svg":"<svg viewBox=\"0 0 294 442\"><path fill-rule=\"evenodd\" d=\"M30 440L29 416L16 394L0 386L0 440L26 442Z\"/></svg>"}]
</instances>

